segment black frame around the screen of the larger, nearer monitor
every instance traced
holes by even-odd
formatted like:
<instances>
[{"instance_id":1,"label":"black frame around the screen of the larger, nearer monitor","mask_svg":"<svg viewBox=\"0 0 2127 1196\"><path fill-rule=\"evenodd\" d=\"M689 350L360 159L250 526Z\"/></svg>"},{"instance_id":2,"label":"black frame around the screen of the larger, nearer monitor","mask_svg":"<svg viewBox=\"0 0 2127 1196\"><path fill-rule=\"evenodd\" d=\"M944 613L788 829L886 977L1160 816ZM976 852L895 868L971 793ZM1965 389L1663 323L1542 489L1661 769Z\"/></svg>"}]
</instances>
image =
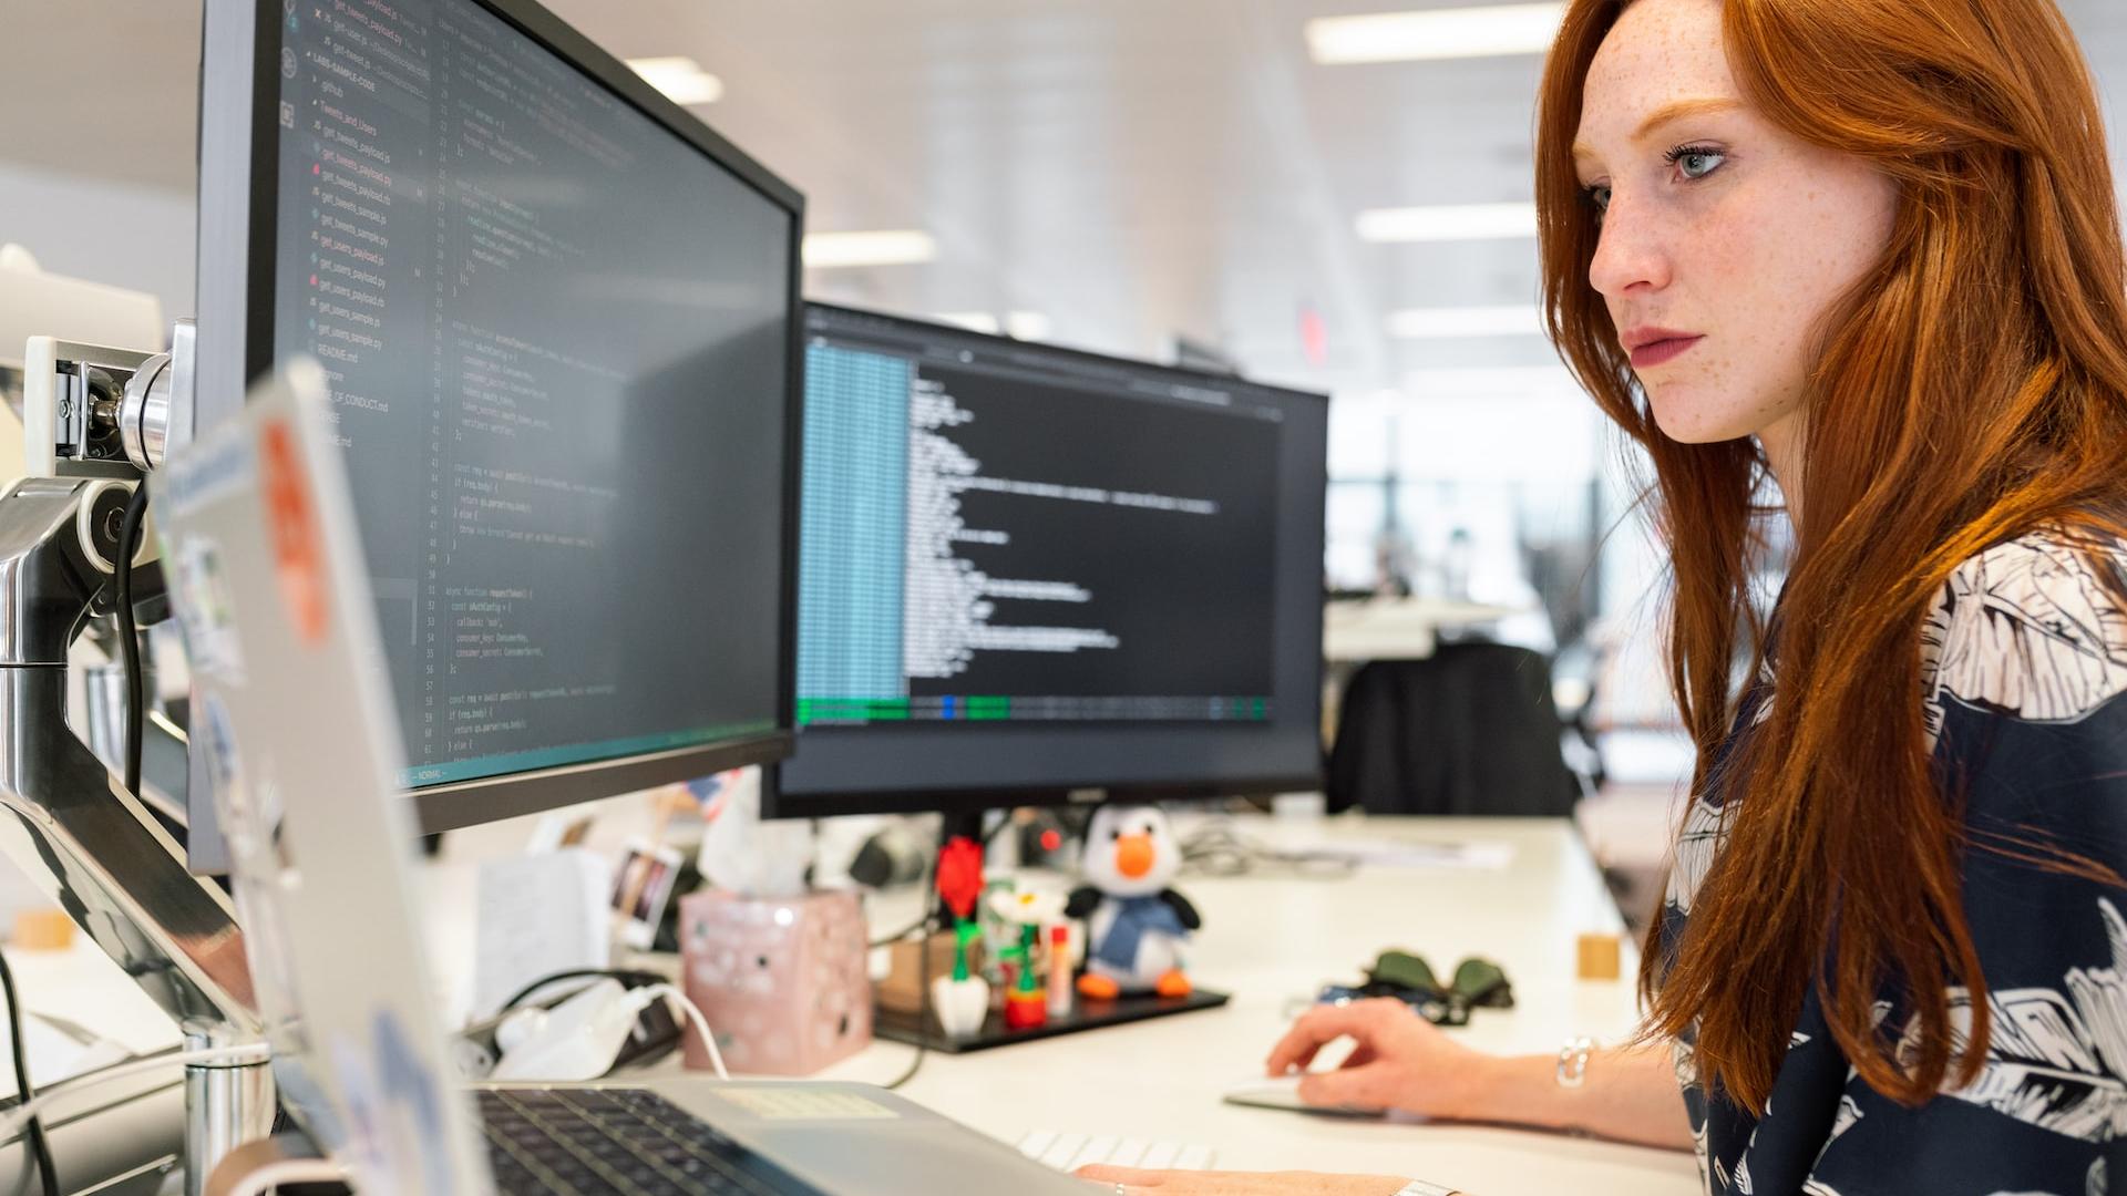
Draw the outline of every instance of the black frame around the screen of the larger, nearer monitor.
<instances>
[{"instance_id":1,"label":"black frame around the screen of the larger, nearer monitor","mask_svg":"<svg viewBox=\"0 0 2127 1196\"><path fill-rule=\"evenodd\" d=\"M783 428L783 568L778 634L798 630L798 502L804 441L804 213L793 185L710 130L623 62L572 30L534 0L466 0L555 53L593 83L657 121L713 164L730 170L791 221L787 251L789 368ZM198 385L179 398L172 438L183 445L200 428L242 409L249 383L272 368L274 219L279 189L279 55L281 0L206 0L200 51L200 223L198 223ZM223 328L238 328L232 338ZM230 351L236 347L238 351ZM685 634L687 615L672 613ZM744 738L657 753L615 755L555 768L504 773L470 781L404 790L423 832L457 830L502 817L608 798L653 785L689 781L725 768L772 764L791 751L795 717L795 651L776 662L776 730ZM213 826L211 781L191 760L194 832L187 860L196 873L228 868L228 849ZM204 813L204 817L202 817ZM202 826L204 824L204 826Z\"/></svg>"}]
</instances>

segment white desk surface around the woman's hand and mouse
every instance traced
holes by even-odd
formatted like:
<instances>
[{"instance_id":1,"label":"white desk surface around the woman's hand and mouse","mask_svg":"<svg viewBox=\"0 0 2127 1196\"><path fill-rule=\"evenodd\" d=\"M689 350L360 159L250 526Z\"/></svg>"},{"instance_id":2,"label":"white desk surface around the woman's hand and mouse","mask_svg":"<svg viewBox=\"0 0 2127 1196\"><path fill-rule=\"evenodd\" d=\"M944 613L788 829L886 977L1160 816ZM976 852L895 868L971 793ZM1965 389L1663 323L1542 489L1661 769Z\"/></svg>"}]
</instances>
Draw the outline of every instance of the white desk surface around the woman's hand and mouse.
<instances>
[{"instance_id":1,"label":"white desk surface around the woman's hand and mouse","mask_svg":"<svg viewBox=\"0 0 2127 1196\"><path fill-rule=\"evenodd\" d=\"M1225 1009L1023 1043L972 1056L929 1056L906 1096L1004 1141L1027 1130L1151 1136L1210 1145L1232 1170L1302 1168L1417 1175L1476 1196L1634 1194L1697 1190L1687 1153L1491 1126L1389 1124L1223 1104L1259 1075L1293 1002L1323 981L1359 979L1385 947L1436 970L1463 956L1497 960L1514 981L1512 1011L1476 1011L1474 1047L1553 1053L1574 1034L1623 1039L1638 1019L1631 981L1574 979L1576 936L1621 930L1602 877L1563 819L1329 819L1289 826L1242 819L1251 836L1327 841L1506 843L1497 870L1368 866L1346 879L1251 875L1185 879L1202 911L1189 970L1234 994ZM1627 947L1627 975L1631 949ZM874 1043L823 1073L883 1083L912 1047Z\"/></svg>"}]
</instances>

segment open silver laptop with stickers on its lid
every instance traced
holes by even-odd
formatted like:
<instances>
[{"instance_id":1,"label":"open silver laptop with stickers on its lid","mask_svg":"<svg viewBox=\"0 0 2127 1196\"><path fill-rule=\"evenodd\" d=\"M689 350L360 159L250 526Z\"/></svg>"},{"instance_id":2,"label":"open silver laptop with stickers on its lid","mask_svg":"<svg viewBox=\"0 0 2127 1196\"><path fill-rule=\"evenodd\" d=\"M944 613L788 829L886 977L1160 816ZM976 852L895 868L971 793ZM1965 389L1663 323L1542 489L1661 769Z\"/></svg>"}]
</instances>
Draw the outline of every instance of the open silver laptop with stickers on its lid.
<instances>
[{"instance_id":1,"label":"open silver laptop with stickers on its lid","mask_svg":"<svg viewBox=\"0 0 2127 1196\"><path fill-rule=\"evenodd\" d=\"M402 747L323 370L287 364L151 485L274 1079L357 1190L1085 1192L861 1083L462 1083L415 932Z\"/></svg>"}]
</instances>

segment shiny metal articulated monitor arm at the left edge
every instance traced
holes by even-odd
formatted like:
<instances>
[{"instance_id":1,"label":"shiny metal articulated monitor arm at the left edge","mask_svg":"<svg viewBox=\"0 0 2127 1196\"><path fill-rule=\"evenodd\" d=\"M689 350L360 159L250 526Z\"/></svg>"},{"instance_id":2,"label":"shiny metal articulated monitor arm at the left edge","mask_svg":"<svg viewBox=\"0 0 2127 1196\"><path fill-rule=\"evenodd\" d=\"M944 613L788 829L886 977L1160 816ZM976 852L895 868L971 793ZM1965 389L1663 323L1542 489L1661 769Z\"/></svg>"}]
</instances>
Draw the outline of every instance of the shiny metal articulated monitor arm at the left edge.
<instances>
[{"instance_id":1,"label":"shiny metal articulated monitor arm at the left edge","mask_svg":"<svg viewBox=\"0 0 2127 1196\"><path fill-rule=\"evenodd\" d=\"M189 328L179 330L179 353ZM162 460L172 355L32 338L30 477L0 489L0 849L40 883L185 1032L191 1047L259 1043L242 930L228 896L68 726L68 647L115 611L128 498ZM40 477L43 475L43 477ZM145 538L145 536L143 536ZM136 562L151 555L149 547ZM157 615L162 570L136 566ZM274 1094L255 1062L187 1070L187 1192L234 1145L266 1136Z\"/></svg>"}]
</instances>

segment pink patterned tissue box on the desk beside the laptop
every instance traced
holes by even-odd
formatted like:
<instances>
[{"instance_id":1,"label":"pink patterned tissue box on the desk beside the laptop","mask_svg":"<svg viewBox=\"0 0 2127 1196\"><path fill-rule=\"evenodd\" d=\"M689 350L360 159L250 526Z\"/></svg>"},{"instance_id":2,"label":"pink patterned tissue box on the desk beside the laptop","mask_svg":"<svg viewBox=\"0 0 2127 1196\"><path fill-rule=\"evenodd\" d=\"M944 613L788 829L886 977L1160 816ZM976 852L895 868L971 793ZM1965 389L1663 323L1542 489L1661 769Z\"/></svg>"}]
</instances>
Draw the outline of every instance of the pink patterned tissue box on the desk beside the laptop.
<instances>
[{"instance_id":1,"label":"pink patterned tissue box on the desk beside the laptop","mask_svg":"<svg viewBox=\"0 0 2127 1196\"><path fill-rule=\"evenodd\" d=\"M810 1075L872 1041L868 932L857 896L681 898L681 964L734 1073ZM687 1066L708 1051L687 1030Z\"/></svg>"}]
</instances>

